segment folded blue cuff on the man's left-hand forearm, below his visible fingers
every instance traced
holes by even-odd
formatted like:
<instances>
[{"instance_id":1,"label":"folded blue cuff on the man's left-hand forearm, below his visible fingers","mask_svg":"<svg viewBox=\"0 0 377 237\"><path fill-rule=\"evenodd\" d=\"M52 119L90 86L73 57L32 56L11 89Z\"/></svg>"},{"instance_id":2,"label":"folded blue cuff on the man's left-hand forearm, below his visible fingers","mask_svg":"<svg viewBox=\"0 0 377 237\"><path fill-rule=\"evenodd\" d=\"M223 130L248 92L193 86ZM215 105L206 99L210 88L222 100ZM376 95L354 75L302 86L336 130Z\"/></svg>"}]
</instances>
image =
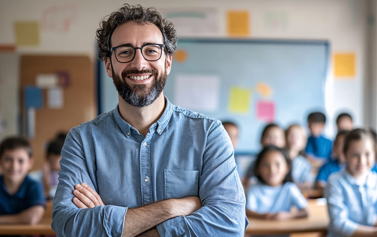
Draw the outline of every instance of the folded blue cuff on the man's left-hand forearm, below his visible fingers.
<instances>
[{"instance_id":1,"label":"folded blue cuff on the man's left-hand forearm, below his visible fingers","mask_svg":"<svg viewBox=\"0 0 377 237\"><path fill-rule=\"evenodd\" d=\"M123 232L124 216L127 208L106 205L104 208L104 227L109 236L121 236Z\"/></svg>"}]
</instances>

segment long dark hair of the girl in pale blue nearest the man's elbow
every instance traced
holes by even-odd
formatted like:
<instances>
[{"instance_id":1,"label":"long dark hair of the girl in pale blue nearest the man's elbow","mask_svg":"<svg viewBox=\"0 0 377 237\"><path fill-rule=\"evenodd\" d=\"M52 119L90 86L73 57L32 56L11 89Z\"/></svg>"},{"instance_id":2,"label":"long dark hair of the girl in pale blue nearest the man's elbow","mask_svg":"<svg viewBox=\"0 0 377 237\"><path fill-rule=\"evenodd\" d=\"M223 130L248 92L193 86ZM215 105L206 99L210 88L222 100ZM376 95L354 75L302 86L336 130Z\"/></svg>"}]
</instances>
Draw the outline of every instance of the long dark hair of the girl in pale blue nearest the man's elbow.
<instances>
[{"instance_id":1,"label":"long dark hair of the girl in pale blue nearest the man's elbow","mask_svg":"<svg viewBox=\"0 0 377 237\"><path fill-rule=\"evenodd\" d=\"M266 146L258 154L257 159L255 161L255 165L254 165L254 174L256 174L255 176L257 177L257 179L260 182L265 183L264 180L262 179L261 175L259 175L258 169L259 169L259 165L261 165L261 162L264 159L264 157L266 156L266 154L268 152L271 152L271 151L280 152L283 155L285 162L287 162L288 173L287 173L287 175L285 175L283 183L293 182L292 173L291 173L291 159L289 159L287 151L285 151L285 149L278 148L277 146L274 146L274 145Z\"/></svg>"}]
</instances>

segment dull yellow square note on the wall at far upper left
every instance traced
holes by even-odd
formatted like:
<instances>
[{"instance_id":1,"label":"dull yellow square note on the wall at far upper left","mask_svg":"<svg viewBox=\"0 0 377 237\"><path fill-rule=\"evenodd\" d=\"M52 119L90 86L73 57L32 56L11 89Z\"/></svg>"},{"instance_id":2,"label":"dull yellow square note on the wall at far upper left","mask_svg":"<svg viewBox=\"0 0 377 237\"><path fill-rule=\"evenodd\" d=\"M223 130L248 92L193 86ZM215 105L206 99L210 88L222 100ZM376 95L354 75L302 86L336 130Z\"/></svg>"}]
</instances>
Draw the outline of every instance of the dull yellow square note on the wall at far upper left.
<instances>
[{"instance_id":1,"label":"dull yellow square note on the wall at far upper left","mask_svg":"<svg viewBox=\"0 0 377 237\"><path fill-rule=\"evenodd\" d=\"M38 22L15 22L14 33L17 46L39 45L39 23Z\"/></svg>"}]
</instances>

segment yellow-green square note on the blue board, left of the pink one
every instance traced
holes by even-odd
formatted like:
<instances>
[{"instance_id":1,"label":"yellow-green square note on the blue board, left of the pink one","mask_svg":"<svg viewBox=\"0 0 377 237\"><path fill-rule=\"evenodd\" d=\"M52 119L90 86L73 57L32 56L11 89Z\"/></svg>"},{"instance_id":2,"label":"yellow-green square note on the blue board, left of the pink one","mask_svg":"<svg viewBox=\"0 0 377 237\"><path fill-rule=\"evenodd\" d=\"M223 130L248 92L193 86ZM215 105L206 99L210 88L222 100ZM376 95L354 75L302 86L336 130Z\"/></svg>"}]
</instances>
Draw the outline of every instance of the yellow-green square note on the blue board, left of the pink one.
<instances>
[{"instance_id":1,"label":"yellow-green square note on the blue board, left of the pink one","mask_svg":"<svg viewBox=\"0 0 377 237\"><path fill-rule=\"evenodd\" d=\"M232 86L229 94L229 111L247 113L250 107L250 95L250 89Z\"/></svg>"}]
</instances>

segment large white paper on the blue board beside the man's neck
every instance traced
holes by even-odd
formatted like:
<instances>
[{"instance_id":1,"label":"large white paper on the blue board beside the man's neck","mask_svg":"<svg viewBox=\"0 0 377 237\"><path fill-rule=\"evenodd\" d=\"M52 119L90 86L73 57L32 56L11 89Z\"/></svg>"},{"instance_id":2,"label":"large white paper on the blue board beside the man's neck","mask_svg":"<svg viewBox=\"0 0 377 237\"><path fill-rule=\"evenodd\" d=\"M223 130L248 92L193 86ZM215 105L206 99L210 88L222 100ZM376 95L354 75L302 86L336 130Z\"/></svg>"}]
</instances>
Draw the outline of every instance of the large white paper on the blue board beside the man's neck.
<instances>
[{"instance_id":1,"label":"large white paper on the blue board beside the man's neck","mask_svg":"<svg viewBox=\"0 0 377 237\"><path fill-rule=\"evenodd\" d=\"M175 78L175 104L199 112L219 108L220 80L215 75L178 75Z\"/></svg>"}]
</instances>

